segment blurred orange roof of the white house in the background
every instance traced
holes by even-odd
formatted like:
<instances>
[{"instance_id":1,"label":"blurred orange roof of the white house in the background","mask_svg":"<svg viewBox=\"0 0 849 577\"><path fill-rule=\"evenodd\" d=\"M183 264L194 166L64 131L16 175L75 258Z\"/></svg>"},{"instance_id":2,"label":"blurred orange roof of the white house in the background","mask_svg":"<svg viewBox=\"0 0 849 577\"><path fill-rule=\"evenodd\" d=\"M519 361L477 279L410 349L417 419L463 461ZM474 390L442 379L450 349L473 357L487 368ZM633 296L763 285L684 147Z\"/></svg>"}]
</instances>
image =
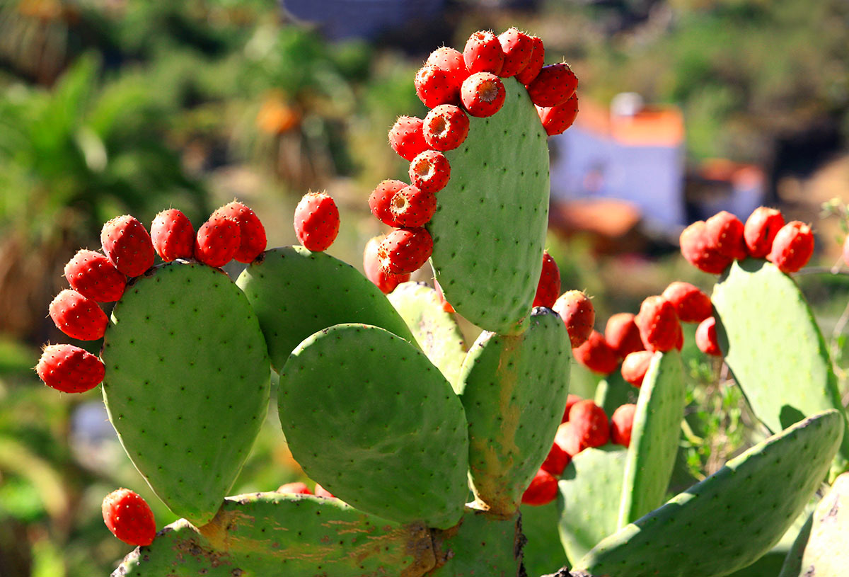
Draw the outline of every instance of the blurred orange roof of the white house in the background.
<instances>
[{"instance_id":1,"label":"blurred orange roof of the white house in the background","mask_svg":"<svg viewBox=\"0 0 849 577\"><path fill-rule=\"evenodd\" d=\"M628 146L678 146L684 139L684 118L675 106L646 106L633 116L613 116L593 102L582 102L575 124Z\"/></svg>"}]
</instances>

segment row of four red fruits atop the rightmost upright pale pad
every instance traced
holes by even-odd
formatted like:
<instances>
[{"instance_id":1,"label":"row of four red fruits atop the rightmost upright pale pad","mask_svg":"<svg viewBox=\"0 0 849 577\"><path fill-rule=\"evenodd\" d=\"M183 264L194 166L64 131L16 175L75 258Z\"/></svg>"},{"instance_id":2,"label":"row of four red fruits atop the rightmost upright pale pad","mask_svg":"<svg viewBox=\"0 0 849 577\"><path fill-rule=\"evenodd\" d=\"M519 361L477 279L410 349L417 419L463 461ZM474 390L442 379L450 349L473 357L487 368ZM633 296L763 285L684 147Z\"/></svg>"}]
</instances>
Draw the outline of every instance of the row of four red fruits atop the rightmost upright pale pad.
<instances>
[{"instance_id":1,"label":"row of four red fruits atop the rightmost upright pale pad","mask_svg":"<svg viewBox=\"0 0 849 577\"><path fill-rule=\"evenodd\" d=\"M766 258L784 273L795 273L813 254L811 227L784 223L781 212L759 206L745 224L730 212L692 223L680 237L681 253L706 273L722 274L734 260Z\"/></svg>"}]
</instances>

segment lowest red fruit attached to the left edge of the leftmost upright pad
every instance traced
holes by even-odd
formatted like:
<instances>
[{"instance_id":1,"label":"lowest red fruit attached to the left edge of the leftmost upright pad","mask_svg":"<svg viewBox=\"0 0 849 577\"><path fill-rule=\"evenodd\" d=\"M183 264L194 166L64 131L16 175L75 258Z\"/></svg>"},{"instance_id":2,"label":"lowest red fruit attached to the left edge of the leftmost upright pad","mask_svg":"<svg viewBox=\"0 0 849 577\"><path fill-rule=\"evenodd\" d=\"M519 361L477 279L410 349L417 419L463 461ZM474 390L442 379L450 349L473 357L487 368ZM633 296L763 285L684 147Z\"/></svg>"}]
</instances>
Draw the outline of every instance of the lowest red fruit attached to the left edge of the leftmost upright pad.
<instances>
[{"instance_id":1,"label":"lowest red fruit attached to the left edge of the leftmost upright pad","mask_svg":"<svg viewBox=\"0 0 849 577\"><path fill-rule=\"evenodd\" d=\"M104 380L100 359L74 345L49 345L36 365L38 378L62 393L85 393Z\"/></svg>"}]
</instances>

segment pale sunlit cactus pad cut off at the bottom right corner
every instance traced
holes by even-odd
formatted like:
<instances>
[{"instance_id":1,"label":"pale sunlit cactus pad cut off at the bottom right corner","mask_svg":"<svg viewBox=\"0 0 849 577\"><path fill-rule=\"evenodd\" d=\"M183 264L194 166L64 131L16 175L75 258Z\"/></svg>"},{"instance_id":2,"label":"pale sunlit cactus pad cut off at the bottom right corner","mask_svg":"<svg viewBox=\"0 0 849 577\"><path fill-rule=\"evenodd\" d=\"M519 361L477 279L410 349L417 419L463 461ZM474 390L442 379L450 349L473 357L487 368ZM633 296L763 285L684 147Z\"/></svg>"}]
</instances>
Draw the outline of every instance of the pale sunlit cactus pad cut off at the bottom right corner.
<instances>
[{"instance_id":1,"label":"pale sunlit cactus pad cut off at the bottom right corner","mask_svg":"<svg viewBox=\"0 0 849 577\"><path fill-rule=\"evenodd\" d=\"M844 577L849 570L849 473L835 479L813 512L811 532L792 577Z\"/></svg>"}]
</instances>

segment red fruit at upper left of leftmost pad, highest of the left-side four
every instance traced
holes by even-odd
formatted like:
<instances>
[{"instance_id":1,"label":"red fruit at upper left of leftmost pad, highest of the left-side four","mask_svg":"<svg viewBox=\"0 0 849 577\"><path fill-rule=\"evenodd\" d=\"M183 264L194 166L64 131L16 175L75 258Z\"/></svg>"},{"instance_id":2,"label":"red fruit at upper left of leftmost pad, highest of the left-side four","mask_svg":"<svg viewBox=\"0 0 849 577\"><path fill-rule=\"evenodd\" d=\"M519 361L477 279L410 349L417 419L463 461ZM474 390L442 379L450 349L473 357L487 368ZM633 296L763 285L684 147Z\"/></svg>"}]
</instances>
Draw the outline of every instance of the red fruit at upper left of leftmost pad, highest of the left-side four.
<instances>
[{"instance_id":1,"label":"red fruit at upper left of leftmost pad, highest of the left-side four","mask_svg":"<svg viewBox=\"0 0 849 577\"><path fill-rule=\"evenodd\" d=\"M100 245L110 262L127 276L138 276L154 265L154 243L138 218L125 214L104 224Z\"/></svg>"}]
</instances>

